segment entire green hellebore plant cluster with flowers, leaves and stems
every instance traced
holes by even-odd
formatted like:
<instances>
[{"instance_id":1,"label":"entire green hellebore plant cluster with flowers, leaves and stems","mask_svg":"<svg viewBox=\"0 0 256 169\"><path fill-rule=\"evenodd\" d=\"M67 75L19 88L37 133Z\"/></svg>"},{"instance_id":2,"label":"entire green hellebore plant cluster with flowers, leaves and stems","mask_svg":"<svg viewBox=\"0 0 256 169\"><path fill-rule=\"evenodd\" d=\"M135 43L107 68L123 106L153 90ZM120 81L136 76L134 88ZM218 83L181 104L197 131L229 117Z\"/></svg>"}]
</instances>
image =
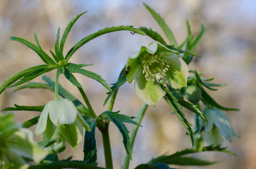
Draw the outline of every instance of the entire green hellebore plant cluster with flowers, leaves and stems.
<instances>
[{"instance_id":1,"label":"entire green hellebore plant cluster with flowers, leaves and stems","mask_svg":"<svg viewBox=\"0 0 256 169\"><path fill-rule=\"evenodd\" d=\"M136 169L170 169L169 165L171 164L198 166L214 164L215 161L185 156L202 151L219 151L232 154L232 152L226 150L226 147L221 147L221 145L224 139L231 142L233 136L239 136L233 130L231 122L222 110L238 109L225 108L219 105L205 90L217 90L215 87L225 86L226 84L210 83L214 78L202 77L202 73L188 68L192 58L199 57L194 51L205 33L204 25L201 24L200 33L194 38L187 21L187 37L182 44L178 45L173 32L169 29L164 19L146 4L144 6L160 25L169 43L151 28L134 28L133 26L122 25L96 31L82 38L67 54L64 54L64 44L68 33L73 24L86 12L78 15L68 24L61 39L60 28L58 28L55 51L50 50L52 57L41 48L36 33L34 34L36 45L24 38L10 38L31 48L45 64L24 69L9 77L1 84L0 93L15 86L15 92L26 88L43 88L54 92L55 99L42 106L19 106L15 104L15 107L8 107L2 110L38 111L41 114L22 124L15 123L12 114L0 114L1 169L102 169L96 163L96 128L102 133L105 167L106 169L112 169L110 133L108 131L110 122L116 125L123 137L127 155L122 169L128 169L129 162L132 160L132 147L136 133L141 127L140 123L144 114L149 105L155 106L161 98L166 100L170 106L170 111L172 109L178 120L184 125L185 131L191 139L192 148L178 151L171 155L159 156L137 166ZM141 46L140 51L137 53L129 55L126 65L120 71L118 80L112 86L109 86L101 76L83 69L92 64L74 64L69 62L69 59L88 41L114 31L131 31L142 36L149 36L153 41L148 46ZM55 81L43 75L55 69ZM104 105L109 102L109 107L106 111L96 115L74 73L92 78L106 88L108 92ZM78 88L85 105L59 84L58 79L62 74ZM42 79L45 83L30 82L40 75L43 75ZM133 120L135 117L120 114L120 111L112 111L119 87L126 82L132 83L133 81L136 95L144 101L136 121ZM204 110L201 110L200 103L204 105ZM194 129L191 127L192 124L185 118L183 108L190 110L194 114ZM125 123L134 125L130 136ZM32 132L27 129L35 124L37 124L35 134L41 135L42 138L42 141L38 143L33 140ZM72 160L72 157L59 160L57 154L65 150L65 143L70 144L75 149L82 141L83 135L84 160ZM208 146L205 146L205 143ZM34 161L35 164L32 165L30 161Z\"/></svg>"}]
</instances>

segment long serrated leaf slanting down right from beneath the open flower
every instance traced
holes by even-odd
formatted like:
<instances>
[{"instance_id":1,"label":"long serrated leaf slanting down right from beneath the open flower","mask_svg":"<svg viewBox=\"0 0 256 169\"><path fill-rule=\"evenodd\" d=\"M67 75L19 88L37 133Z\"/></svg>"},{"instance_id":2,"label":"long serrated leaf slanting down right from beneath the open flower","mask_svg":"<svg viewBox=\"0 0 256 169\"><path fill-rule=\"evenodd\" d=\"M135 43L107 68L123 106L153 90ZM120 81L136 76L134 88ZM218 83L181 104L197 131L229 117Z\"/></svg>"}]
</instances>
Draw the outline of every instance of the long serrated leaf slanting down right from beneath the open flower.
<instances>
[{"instance_id":1,"label":"long serrated leaf slanting down right from beneath the open flower","mask_svg":"<svg viewBox=\"0 0 256 169\"><path fill-rule=\"evenodd\" d=\"M192 146L194 145L194 132L192 131L191 127L192 124L190 124L187 119L184 116L182 106L178 103L178 100L176 97L170 92L167 87L163 86L163 89L166 91L166 95L164 96L164 99L167 101L168 105L173 109L174 113L177 115L180 122L185 127L188 135L190 136Z\"/></svg>"}]
</instances>

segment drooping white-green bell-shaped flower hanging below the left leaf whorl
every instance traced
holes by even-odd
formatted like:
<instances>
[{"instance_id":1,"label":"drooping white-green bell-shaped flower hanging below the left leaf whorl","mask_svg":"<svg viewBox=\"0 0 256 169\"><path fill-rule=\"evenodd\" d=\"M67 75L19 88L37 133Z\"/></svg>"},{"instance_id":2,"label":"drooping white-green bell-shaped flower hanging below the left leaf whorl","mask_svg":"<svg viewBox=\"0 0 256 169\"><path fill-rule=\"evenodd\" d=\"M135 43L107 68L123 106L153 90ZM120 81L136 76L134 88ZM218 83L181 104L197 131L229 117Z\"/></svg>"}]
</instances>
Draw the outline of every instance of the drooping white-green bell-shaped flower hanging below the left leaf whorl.
<instances>
[{"instance_id":1,"label":"drooping white-green bell-shaped flower hanging below the left leaf whorl","mask_svg":"<svg viewBox=\"0 0 256 169\"><path fill-rule=\"evenodd\" d=\"M58 125L60 127L57 127ZM55 99L45 105L35 133L42 134L42 139L50 139L56 136L55 132L58 132L65 141L76 148L83 137L83 126L85 130L91 131L72 101Z\"/></svg>"}]
</instances>

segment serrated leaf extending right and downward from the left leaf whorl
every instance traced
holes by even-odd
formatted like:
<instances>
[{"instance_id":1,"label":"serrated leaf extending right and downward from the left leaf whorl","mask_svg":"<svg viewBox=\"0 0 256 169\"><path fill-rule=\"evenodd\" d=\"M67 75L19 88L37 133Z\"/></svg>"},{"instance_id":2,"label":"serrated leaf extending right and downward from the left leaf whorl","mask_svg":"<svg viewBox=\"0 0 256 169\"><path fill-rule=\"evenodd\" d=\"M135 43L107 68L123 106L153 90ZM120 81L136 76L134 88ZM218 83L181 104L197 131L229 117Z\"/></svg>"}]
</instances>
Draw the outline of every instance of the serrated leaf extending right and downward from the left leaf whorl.
<instances>
[{"instance_id":1,"label":"serrated leaf extending right and downward from the left leaf whorl","mask_svg":"<svg viewBox=\"0 0 256 169\"><path fill-rule=\"evenodd\" d=\"M65 66L65 69L67 69L70 73L80 73L80 74L82 74L84 76L92 78L92 79L98 81L99 83L101 83L102 85L104 85L104 87L107 88L109 91L111 91L111 88L106 83L106 81L103 78L101 78L101 76L97 75L94 72L88 71L86 69L80 69L81 67L84 67L84 66L87 66L87 65L84 65L84 64L77 65L77 64L73 64L72 63L72 64L67 64L67 66ZM70 79L72 79L71 77L70 77ZM74 79L72 79L72 83L77 84L78 81L75 82Z\"/></svg>"}]
</instances>

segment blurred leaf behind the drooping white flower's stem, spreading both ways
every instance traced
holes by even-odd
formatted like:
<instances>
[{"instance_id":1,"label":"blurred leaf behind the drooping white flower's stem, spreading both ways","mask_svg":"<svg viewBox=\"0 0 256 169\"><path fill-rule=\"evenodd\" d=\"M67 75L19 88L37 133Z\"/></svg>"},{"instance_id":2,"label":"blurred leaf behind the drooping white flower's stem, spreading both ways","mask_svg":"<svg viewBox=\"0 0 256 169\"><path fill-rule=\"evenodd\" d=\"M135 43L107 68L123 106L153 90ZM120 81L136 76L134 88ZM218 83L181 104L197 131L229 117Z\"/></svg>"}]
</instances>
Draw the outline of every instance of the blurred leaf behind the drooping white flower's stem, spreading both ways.
<instances>
[{"instance_id":1,"label":"blurred leaf behind the drooping white flower's stem, spreading both ways","mask_svg":"<svg viewBox=\"0 0 256 169\"><path fill-rule=\"evenodd\" d=\"M55 82L51 80L51 78L43 75L42 79L44 81L47 82L47 84L43 84L43 83L27 83L27 84L23 84L18 86L14 91L18 91L21 89L25 89L25 88L43 88L43 89L48 89L52 92L55 91ZM58 93L61 97L71 100L74 105L77 107L77 109L80 111L81 115L87 115L90 116L88 108L86 108L80 100L78 100L76 97L74 97L70 92L68 92L67 90L65 90L60 84L58 86Z\"/></svg>"}]
</instances>

